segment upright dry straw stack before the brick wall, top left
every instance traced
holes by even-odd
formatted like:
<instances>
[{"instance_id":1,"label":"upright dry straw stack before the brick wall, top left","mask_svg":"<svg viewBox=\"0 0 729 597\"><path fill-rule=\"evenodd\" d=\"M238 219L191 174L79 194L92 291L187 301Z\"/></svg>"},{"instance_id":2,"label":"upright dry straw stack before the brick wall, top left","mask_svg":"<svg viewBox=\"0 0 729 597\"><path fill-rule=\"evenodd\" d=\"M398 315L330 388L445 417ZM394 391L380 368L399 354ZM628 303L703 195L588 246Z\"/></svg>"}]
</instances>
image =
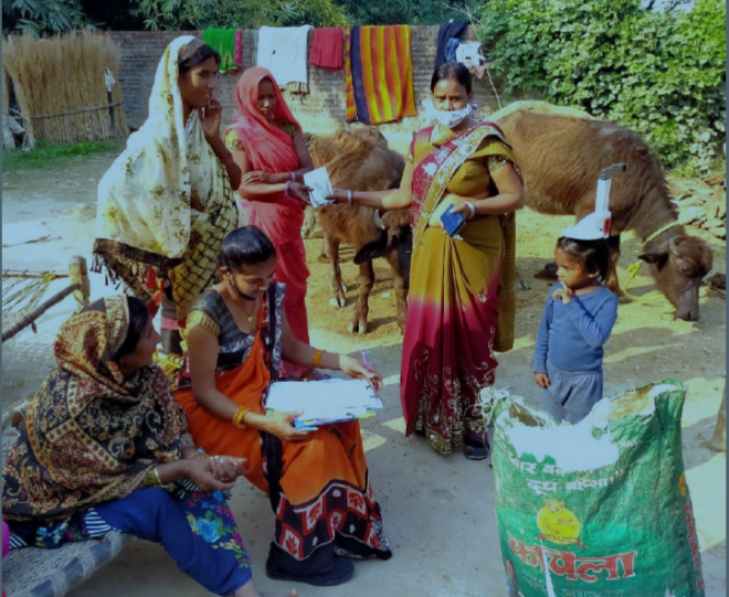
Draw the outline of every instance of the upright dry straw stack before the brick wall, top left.
<instances>
[{"instance_id":1,"label":"upright dry straw stack before the brick wall, top left","mask_svg":"<svg viewBox=\"0 0 729 597\"><path fill-rule=\"evenodd\" d=\"M2 63L25 130L35 139L66 143L126 135L119 84L113 88L113 102L119 103L114 106L119 131L115 134L104 81L108 67L118 82L120 55L109 38L87 31L44 40L31 35L3 39Z\"/></svg>"}]
</instances>

